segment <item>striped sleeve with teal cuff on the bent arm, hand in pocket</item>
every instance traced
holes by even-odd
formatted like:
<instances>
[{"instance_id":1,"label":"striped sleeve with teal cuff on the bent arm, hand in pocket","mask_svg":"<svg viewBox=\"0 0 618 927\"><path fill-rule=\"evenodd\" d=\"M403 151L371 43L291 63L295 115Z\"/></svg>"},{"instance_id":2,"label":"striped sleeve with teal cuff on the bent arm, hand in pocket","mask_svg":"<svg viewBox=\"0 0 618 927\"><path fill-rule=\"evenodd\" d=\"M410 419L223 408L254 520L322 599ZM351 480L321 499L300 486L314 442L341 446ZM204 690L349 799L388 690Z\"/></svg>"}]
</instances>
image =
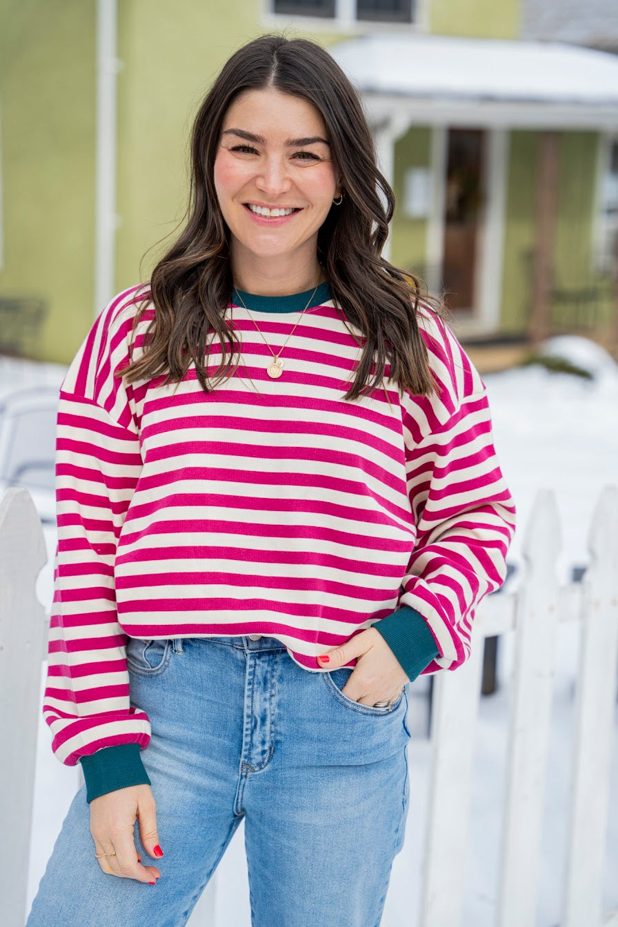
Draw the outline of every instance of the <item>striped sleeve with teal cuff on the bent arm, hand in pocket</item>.
<instances>
[{"instance_id":1,"label":"striped sleeve with teal cuff on the bent arm, hand in pocket","mask_svg":"<svg viewBox=\"0 0 618 927\"><path fill-rule=\"evenodd\" d=\"M452 384L459 375L464 395L444 390L442 421L432 421L435 408L425 403L429 426L424 433L410 428L406 471L417 538L400 607L374 626L410 679L456 669L470 656L476 608L504 582L515 532L515 505L498 464L485 384L447 335L449 347L458 349L457 368L449 360ZM442 356L448 359L448 352Z\"/></svg>"}]
</instances>

